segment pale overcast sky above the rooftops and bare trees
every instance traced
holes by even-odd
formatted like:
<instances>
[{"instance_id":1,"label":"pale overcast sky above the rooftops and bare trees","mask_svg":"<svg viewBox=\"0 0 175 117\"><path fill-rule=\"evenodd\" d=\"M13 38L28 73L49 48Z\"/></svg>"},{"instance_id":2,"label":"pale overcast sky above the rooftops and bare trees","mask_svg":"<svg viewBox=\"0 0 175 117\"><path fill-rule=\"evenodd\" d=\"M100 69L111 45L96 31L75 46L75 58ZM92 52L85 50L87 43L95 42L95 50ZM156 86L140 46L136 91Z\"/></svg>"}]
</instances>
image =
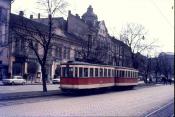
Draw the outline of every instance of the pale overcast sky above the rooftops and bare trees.
<instances>
[{"instance_id":1,"label":"pale overcast sky above the rooftops and bare trees","mask_svg":"<svg viewBox=\"0 0 175 117\"><path fill-rule=\"evenodd\" d=\"M156 40L158 52L174 52L174 0L67 0L72 14L80 16L92 5L98 20L104 20L110 35L118 37L128 23L141 24L148 32L147 42ZM37 0L15 0L12 13L23 10L26 17L42 12ZM66 19L67 12L58 14Z\"/></svg>"}]
</instances>

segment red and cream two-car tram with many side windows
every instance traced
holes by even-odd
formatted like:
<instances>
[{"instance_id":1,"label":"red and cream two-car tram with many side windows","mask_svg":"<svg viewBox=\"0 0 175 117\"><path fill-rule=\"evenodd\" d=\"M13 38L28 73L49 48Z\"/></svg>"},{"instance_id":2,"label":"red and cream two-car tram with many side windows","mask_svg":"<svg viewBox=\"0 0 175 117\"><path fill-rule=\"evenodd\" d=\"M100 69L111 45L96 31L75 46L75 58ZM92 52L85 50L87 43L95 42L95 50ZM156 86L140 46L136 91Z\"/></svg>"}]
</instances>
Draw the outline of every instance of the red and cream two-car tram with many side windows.
<instances>
[{"instance_id":1,"label":"red and cream two-car tram with many side windows","mask_svg":"<svg viewBox=\"0 0 175 117\"><path fill-rule=\"evenodd\" d=\"M133 87L138 71L133 68L97 65L84 62L61 64L60 88L64 90Z\"/></svg>"}]
</instances>

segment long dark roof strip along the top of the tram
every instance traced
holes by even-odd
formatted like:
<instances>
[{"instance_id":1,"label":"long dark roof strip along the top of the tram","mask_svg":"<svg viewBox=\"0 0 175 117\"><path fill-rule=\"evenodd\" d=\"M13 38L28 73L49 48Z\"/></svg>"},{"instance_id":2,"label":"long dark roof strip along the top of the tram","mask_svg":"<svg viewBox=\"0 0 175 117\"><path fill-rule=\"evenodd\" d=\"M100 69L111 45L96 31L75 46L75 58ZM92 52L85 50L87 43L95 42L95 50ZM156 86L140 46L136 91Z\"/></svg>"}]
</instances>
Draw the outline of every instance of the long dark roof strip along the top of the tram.
<instances>
[{"instance_id":1,"label":"long dark roof strip along the top of the tram","mask_svg":"<svg viewBox=\"0 0 175 117\"><path fill-rule=\"evenodd\" d=\"M130 67L122 67L122 66L113 66L113 65L102 65L102 64L92 64L92 63L87 63L87 62L81 62L81 61L68 61L65 63L62 63L62 65L87 65L87 66L103 66L103 67L115 67L118 69L129 69L129 70L136 70L134 68Z\"/></svg>"}]
</instances>

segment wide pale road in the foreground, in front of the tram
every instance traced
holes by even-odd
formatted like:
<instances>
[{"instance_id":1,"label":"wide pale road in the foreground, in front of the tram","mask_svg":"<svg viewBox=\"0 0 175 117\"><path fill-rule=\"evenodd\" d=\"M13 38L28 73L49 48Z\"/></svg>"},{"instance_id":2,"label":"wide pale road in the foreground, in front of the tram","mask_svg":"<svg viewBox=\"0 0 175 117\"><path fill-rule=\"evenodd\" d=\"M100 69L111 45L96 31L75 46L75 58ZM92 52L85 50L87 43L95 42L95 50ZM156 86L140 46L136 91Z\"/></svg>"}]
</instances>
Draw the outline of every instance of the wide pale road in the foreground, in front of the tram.
<instances>
[{"instance_id":1,"label":"wide pale road in the foreground, in front of the tram","mask_svg":"<svg viewBox=\"0 0 175 117\"><path fill-rule=\"evenodd\" d=\"M174 114L174 86L164 85L102 94L29 98L0 102L0 117L147 116ZM168 105L169 104L169 105ZM166 108L161 108L164 107ZM161 109L160 109L161 108ZM161 110L160 112L156 110ZM151 116L148 116L153 113ZM157 113L156 116L153 116ZM158 114L159 113L159 114Z\"/></svg>"}]
</instances>

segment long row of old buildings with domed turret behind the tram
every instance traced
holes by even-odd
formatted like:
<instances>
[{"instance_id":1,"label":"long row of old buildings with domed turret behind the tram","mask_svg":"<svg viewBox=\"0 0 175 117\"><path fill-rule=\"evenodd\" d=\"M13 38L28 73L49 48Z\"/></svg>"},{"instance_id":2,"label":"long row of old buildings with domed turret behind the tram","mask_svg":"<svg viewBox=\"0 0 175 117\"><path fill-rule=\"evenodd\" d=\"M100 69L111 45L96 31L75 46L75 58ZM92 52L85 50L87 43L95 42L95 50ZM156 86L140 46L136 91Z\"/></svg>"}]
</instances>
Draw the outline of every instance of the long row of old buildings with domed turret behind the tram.
<instances>
[{"instance_id":1,"label":"long row of old buildings with domed turret behind the tram","mask_svg":"<svg viewBox=\"0 0 175 117\"><path fill-rule=\"evenodd\" d=\"M28 74L36 81L40 81L42 74L37 57L30 48L26 48L25 41L21 41L15 31L26 34L30 30L32 31L31 36L34 35L41 40L37 31L40 30L43 35L47 35L48 18L41 18L38 14L38 18L35 19L31 15L28 19L23 14L22 11L19 15L10 14L8 40L11 40L12 43L9 46L8 72L12 75ZM22 26L22 23L25 26ZM54 17L52 23L54 38L48 52L46 70L48 79L54 78L61 62L70 60L132 67L130 48L109 35L105 22L98 21L92 6L87 8L82 17L78 14L73 15L69 11L67 20L62 17ZM36 48L40 48L37 43ZM42 56L42 49L37 49L37 51Z\"/></svg>"}]
</instances>

